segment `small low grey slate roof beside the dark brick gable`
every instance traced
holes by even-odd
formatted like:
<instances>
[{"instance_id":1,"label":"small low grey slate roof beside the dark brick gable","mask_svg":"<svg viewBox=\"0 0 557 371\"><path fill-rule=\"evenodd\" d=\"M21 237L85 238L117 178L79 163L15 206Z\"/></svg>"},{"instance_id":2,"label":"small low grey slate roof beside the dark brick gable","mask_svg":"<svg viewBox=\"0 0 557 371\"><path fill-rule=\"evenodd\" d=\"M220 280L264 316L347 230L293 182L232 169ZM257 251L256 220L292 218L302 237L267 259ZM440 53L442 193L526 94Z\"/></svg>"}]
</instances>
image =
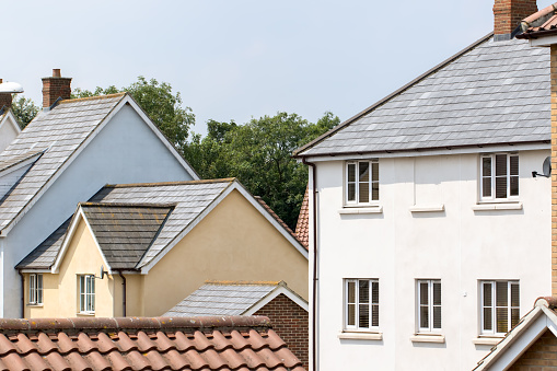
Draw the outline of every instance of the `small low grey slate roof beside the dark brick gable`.
<instances>
[{"instance_id":1,"label":"small low grey slate roof beside the dark brick gable","mask_svg":"<svg viewBox=\"0 0 557 371\"><path fill-rule=\"evenodd\" d=\"M163 316L243 315L280 282L207 282Z\"/></svg>"}]
</instances>

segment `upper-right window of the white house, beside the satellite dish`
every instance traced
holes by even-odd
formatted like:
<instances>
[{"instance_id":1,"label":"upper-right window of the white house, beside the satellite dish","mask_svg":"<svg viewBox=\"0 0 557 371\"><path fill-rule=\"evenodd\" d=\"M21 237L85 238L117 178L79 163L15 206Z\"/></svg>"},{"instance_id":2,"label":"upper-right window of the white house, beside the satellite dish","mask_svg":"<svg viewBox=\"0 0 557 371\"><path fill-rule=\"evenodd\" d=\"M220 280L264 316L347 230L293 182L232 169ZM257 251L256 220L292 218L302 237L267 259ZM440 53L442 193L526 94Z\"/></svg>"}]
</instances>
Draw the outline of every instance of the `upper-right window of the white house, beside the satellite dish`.
<instances>
[{"instance_id":1,"label":"upper-right window of the white house, beside the satellite dish","mask_svg":"<svg viewBox=\"0 0 557 371\"><path fill-rule=\"evenodd\" d=\"M509 200L519 196L519 155L481 155L481 200Z\"/></svg>"}]
</instances>

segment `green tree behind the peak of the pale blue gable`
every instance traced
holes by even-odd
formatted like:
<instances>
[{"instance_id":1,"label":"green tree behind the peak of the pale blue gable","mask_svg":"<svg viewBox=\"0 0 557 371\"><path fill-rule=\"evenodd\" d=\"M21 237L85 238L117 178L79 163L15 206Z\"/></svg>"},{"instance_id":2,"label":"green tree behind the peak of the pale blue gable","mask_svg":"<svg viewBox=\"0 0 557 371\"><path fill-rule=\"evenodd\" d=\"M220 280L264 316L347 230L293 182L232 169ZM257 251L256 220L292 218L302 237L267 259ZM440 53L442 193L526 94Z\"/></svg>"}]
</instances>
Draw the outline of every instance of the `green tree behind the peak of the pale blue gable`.
<instances>
[{"instance_id":1,"label":"green tree behind the peak of the pale blue gable","mask_svg":"<svg viewBox=\"0 0 557 371\"><path fill-rule=\"evenodd\" d=\"M114 85L106 89L97 86L91 92L78 88L72 92L72 97L89 97L118 92L130 93L154 125L176 148L182 148L186 143L189 127L195 124L195 115L192 108L182 106L179 92L174 94L171 84L166 82L159 83L155 79L148 81L140 76L136 82L121 89Z\"/></svg>"}]
</instances>

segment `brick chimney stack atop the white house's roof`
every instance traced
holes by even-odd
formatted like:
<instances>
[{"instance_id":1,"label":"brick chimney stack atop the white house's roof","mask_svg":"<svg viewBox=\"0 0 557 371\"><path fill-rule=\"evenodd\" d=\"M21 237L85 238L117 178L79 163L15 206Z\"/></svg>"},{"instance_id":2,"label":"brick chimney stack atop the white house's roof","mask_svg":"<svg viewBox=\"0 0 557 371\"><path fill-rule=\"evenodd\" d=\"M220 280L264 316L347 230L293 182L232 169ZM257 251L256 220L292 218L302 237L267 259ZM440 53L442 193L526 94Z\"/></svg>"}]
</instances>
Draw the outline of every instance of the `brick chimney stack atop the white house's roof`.
<instances>
[{"instance_id":1,"label":"brick chimney stack atop the white house's roof","mask_svg":"<svg viewBox=\"0 0 557 371\"><path fill-rule=\"evenodd\" d=\"M537 12L536 0L495 0L495 40L511 39L520 21Z\"/></svg>"}]
</instances>

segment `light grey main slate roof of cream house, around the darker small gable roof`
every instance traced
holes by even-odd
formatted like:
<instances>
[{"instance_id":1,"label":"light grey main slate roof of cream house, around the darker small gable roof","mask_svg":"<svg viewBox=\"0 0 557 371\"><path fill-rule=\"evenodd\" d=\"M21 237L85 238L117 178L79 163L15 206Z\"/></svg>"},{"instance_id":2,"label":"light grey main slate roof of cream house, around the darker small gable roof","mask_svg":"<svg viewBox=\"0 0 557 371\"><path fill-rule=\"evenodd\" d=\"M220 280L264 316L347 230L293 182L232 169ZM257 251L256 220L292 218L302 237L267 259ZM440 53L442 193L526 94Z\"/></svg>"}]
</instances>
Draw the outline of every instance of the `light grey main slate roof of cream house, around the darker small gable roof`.
<instances>
[{"instance_id":1,"label":"light grey main slate roof of cream house, around the darker small gable roof","mask_svg":"<svg viewBox=\"0 0 557 371\"><path fill-rule=\"evenodd\" d=\"M164 247L166 247L182 231L184 231L234 179L192 181L176 183L107 185L103 187L91 202L102 202L109 206L115 204L137 205L148 204L174 205L174 209L155 235L154 241L143 250L142 258L136 264L140 268L149 264ZM92 227L93 228L93 227ZM93 228L94 229L94 228ZM49 269L60 251L68 224L60 225L49 237L39 244L31 254L23 258L16 268ZM95 233L96 235L96 233ZM144 245L143 245L144 246ZM139 254L139 250L137 252ZM130 263L129 256L127 263ZM113 267L114 268L114 267Z\"/></svg>"}]
</instances>

